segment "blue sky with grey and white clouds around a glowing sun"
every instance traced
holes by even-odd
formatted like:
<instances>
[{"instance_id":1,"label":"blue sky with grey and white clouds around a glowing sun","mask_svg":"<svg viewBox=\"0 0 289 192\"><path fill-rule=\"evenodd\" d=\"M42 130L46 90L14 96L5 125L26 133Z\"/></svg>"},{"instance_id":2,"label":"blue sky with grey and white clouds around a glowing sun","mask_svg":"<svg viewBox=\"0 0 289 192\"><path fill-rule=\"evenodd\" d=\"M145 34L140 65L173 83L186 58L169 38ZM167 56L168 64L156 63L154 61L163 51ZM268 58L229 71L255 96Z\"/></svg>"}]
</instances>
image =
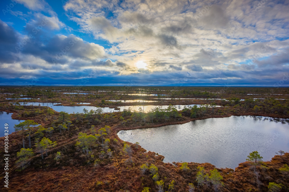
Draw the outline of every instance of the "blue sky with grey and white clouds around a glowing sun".
<instances>
[{"instance_id":1,"label":"blue sky with grey and white clouds around a glowing sun","mask_svg":"<svg viewBox=\"0 0 289 192\"><path fill-rule=\"evenodd\" d=\"M2 0L0 85L289 86L289 0Z\"/></svg>"}]
</instances>

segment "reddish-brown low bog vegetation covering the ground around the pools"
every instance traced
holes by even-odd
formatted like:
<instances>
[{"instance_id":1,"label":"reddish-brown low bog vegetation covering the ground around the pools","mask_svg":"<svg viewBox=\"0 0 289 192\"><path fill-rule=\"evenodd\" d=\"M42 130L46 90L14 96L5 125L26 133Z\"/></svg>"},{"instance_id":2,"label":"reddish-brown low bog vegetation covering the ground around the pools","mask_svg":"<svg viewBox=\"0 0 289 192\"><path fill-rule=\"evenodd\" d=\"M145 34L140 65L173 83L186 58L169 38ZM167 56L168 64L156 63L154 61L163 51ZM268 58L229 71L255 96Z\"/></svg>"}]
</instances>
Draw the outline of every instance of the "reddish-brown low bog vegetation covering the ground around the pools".
<instances>
[{"instance_id":1,"label":"reddish-brown low bog vegetation covering the ground around the pools","mask_svg":"<svg viewBox=\"0 0 289 192\"><path fill-rule=\"evenodd\" d=\"M233 89L234 90L234 89ZM237 91L237 90L234 90ZM253 89L254 91L254 89ZM257 90L260 91L260 90ZM268 91L268 90L267 90ZM287 90L279 90L282 93L287 93ZM166 91L154 93L168 94ZM266 92L264 92L266 93ZM178 94L176 92L175 94ZM183 96L186 92L182 93ZM196 93L202 94L202 93ZM232 91L226 96L236 96L237 93ZM223 96L219 94L216 98ZM109 97L109 93L106 94ZM197 97L197 96L196 96ZM242 94L243 98L247 98L247 94ZM61 96L66 98L61 102L65 105L71 106L71 101L68 101L70 96ZM133 96L126 96L126 99L135 99ZM47 98L48 101L56 101L55 98ZM60 99L59 99L60 100ZM91 102L92 105L99 105L101 98L87 98L87 99L75 99L81 102ZM197 103L198 102L198 103ZM218 102L218 101L217 101ZM0 111L6 111L14 113L12 118L14 119L31 119L37 123L40 123L45 128L51 127L53 121L56 125L60 122L58 116L59 113L54 111L54 114L47 114L47 107L31 107L24 106L23 109L16 109L15 106L7 104L8 101L4 101ZM159 105L161 102L156 102ZM181 101L169 101L163 103L178 104ZM163 104L162 103L162 104ZM194 104L208 103L205 100L196 100ZM130 103L137 104L137 103ZM148 103L146 103L148 104ZM151 103L150 103L151 104ZM187 103L186 104L191 104ZM221 104L221 103L217 103ZM284 103L285 104L285 103ZM75 105L75 104L73 104ZM116 104L111 104L113 107ZM105 106L105 105L103 105ZM110 105L107 105L110 106ZM120 106L120 105L117 105ZM188 184L193 183L196 187L195 191L214 191L212 186L207 183L202 187L197 188L196 174L197 167L202 166L205 168L205 173L209 173L215 167L212 164L204 163L188 163L190 168L187 172L180 169L181 163L164 163L162 160L164 157L158 155L155 152L146 151L141 147L137 147L136 144L129 143L133 151L131 159L123 151L123 141L118 138L116 133L119 130L129 130L137 128L152 128L170 124L186 123L196 119L205 119L212 117L229 117L231 115L259 115L269 116L276 118L288 118L287 114L270 113L266 110L258 111L255 113L251 108L249 110L245 107L221 107L215 108L214 113L212 109L208 109L205 114L197 115L197 117L190 117L190 113L186 114L181 112L182 117L170 118L166 121L133 121L130 116L124 116L126 123L122 123L120 120L121 112L114 113L114 118L105 121L103 116L99 121L91 121L88 119L76 120L74 115L70 115L72 124L69 131L54 130L50 136L45 133L45 137L58 143L57 147L49 149L48 156L42 160L41 154L35 150L34 135L32 135L32 149L36 155L30 160L30 165L22 171L17 170L18 167L15 164L17 160L16 153L20 151L22 147L22 137L20 133L9 135L9 191L100 191L100 192L119 192L129 190L129 192L141 192L144 187L150 187L150 192L157 191L152 179L152 175L147 171L144 174L140 170L140 166L144 163L149 165L154 164L158 167L159 180L164 181L164 189L168 191L168 185L172 180L175 181L173 191L185 192L188 191ZM95 118L95 117L94 117ZM75 146L78 139L78 133L83 132L86 134L91 133L91 125L95 125L95 130L103 128L105 125L111 126L112 132L105 136L110 139L109 147L112 151L112 157L101 158L101 139L99 139L98 146L93 147L92 151L87 155L77 146ZM10 130L13 125L10 125ZM117 142L114 141L117 140ZM0 149L4 148L4 138L0 138ZM27 143L27 140L26 140ZM0 150L0 151L1 151ZM61 159L55 160L55 154L60 151ZM3 154L1 152L0 154ZM93 155L93 156L92 156ZM99 165L94 166L96 159L99 159ZM223 176L224 186L220 188L220 191L268 191L268 183L275 182L281 183L281 191L288 191L289 189L289 176L279 172L279 168L284 164L289 164L289 153L275 155L271 161L265 162L263 166L257 166L257 173L254 173L253 168L249 162L240 163L235 169L218 169ZM1 160L0 169L4 170L4 160ZM0 180L3 181L4 172L0 174ZM0 191L7 190L3 183L0 186Z\"/></svg>"}]
</instances>

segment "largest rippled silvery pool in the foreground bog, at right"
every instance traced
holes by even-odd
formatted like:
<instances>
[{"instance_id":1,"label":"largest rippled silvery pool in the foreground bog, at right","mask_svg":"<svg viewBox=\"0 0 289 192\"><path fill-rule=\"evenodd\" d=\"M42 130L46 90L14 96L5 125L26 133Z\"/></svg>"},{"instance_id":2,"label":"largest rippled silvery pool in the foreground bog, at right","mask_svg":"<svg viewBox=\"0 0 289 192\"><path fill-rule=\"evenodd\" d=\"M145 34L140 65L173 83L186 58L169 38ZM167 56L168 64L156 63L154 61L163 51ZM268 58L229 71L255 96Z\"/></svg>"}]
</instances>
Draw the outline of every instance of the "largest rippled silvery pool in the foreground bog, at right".
<instances>
[{"instance_id":1,"label":"largest rippled silvery pool in the foreground bog, at right","mask_svg":"<svg viewBox=\"0 0 289 192\"><path fill-rule=\"evenodd\" d=\"M279 150L289 152L288 123L270 121L268 117L210 118L120 131L117 135L163 155L164 162L208 162L217 168L234 169L252 151L258 151L264 161L271 160Z\"/></svg>"}]
</instances>

